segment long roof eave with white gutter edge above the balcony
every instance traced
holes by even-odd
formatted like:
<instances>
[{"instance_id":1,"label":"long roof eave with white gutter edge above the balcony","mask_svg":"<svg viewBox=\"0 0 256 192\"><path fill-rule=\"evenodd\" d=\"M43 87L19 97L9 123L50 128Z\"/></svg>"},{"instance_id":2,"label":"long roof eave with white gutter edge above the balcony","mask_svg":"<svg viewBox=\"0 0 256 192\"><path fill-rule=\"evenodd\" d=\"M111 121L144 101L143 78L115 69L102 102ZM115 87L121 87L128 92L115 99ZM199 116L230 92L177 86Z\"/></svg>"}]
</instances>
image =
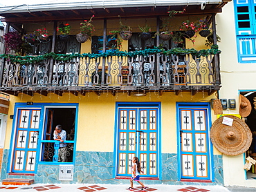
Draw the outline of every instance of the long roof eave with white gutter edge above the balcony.
<instances>
[{"instance_id":1,"label":"long roof eave with white gutter edge above the balcony","mask_svg":"<svg viewBox=\"0 0 256 192\"><path fill-rule=\"evenodd\" d=\"M1 21L25 23L54 20L80 20L122 17L156 17L168 10L186 9L185 15L205 15L221 12L228 1L215 0L95 0L75 3L5 6L0 8Z\"/></svg>"}]
</instances>

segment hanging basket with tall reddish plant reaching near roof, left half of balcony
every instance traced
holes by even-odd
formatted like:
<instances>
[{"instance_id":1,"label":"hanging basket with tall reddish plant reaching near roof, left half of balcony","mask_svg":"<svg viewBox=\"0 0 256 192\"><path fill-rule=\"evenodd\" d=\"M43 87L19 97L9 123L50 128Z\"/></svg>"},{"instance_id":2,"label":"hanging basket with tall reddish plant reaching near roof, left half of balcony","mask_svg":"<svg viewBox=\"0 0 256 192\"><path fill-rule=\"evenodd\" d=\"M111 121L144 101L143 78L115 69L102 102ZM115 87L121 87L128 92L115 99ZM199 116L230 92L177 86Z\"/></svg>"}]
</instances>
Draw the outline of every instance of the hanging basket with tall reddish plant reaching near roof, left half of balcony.
<instances>
[{"instance_id":1,"label":"hanging basket with tall reddish plant reaching near roof, left half of balcony","mask_svg":"<svg viewBox=\"0 0 256 192\"><path fill-rule=\"evenodd\" d=\"M87 39L91 38L91 34L93 31L95 31L95 27L91 23L93 20L93 16L91 16L91 19L84 20L84 22L80 23L80 33L78 33L75 37L78 42L84 43L87 41Z\"/></svg>"}]
</instances>

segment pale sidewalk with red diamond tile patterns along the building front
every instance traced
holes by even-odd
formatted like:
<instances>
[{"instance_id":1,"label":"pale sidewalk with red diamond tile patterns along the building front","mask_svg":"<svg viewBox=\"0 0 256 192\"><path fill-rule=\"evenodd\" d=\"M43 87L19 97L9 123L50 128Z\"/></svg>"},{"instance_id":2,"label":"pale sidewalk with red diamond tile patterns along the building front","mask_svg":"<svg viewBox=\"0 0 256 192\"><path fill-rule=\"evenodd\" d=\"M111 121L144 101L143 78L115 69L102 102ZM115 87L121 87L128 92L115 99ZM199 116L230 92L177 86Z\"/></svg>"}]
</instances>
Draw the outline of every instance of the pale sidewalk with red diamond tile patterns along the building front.
<instances>
[{"instance_id":1,"label":"pale sidewalk with red diamond tile patterns along the building front","mask_svg":"<svg viewBox=\"0 0 256 192\"><path fill-rule=\"evenodd\" d=\"M147 186L147 185L146 185ZM73 191L102 191L102 192L127 192L128 184L32 184L28 186L0 185L0 191L49 191L52 192L73 192ZM164 185L154 184L148 185L146 191L179 191L179 192L228 192L229 190L223 186L185 186L185 185ZM141 186L134 184L134 191L141 191ZM243 188L244 189L244 188ZM256 188L254 189L256 191ZM245 190L241 190L244 191ZM247 191L246 191L247 192Z\"/></svg>"}]
</instances>

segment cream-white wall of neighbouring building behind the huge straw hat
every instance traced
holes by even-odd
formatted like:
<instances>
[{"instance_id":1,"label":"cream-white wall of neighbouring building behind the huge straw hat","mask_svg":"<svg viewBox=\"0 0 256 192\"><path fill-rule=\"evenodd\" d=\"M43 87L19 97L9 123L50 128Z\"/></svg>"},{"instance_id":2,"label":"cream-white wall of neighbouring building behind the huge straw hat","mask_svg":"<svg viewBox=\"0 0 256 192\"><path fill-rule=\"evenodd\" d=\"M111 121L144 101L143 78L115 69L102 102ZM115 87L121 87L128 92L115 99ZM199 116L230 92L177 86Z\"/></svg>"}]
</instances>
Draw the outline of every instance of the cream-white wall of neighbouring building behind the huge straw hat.
<instances>
[{"instance_id":1,"label":"cream-white wall of neighbouring building behind the huge straw hat","mask_svg":"<svg viewBox=\"0 0 256 192\"><path fill-rule=\"evenodd\" d=\"M235 110L223 111L224 114L239 114L239 90L256 91L256 63L239 64L237 59L237 43L235 37L235 16L233 1L223 7L217 14L217 34L221 37L221 90L219 97L236 99ZM254 186L256 180L246 180L244 171L244 154L237 156L223 155L223 175L225 186ZM255 175L256 177L256 175Z\"/></svg>"}]
</instances>

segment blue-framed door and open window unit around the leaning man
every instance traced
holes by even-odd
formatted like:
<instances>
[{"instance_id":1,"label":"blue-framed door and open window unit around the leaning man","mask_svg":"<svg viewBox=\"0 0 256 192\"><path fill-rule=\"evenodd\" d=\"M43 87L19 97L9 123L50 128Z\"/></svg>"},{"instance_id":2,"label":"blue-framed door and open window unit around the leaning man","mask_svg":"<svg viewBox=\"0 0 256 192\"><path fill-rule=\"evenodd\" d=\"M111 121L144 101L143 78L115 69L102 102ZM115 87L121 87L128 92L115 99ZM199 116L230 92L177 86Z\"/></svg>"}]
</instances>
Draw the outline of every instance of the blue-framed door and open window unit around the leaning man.
<instances>
[{"instance_id":1,"label":"blue-framed door and open window unit around the leaning man","mask_svg":"<svg viewBox=\"0 0 256 192\"><path fill-rule=\"evenodd\" d=\"M8 171L37 173L37 164L73 164L77 109L78 104L15 104ZM53 140L53 131L57 124L62 124L66 130L67 140L64 145L67 150L68 147L71 148L68 151L69 156L66 155L63 162L58 161L59 147L63 146L60 146L59 141Z\"/></svg>"}]
</instances>

